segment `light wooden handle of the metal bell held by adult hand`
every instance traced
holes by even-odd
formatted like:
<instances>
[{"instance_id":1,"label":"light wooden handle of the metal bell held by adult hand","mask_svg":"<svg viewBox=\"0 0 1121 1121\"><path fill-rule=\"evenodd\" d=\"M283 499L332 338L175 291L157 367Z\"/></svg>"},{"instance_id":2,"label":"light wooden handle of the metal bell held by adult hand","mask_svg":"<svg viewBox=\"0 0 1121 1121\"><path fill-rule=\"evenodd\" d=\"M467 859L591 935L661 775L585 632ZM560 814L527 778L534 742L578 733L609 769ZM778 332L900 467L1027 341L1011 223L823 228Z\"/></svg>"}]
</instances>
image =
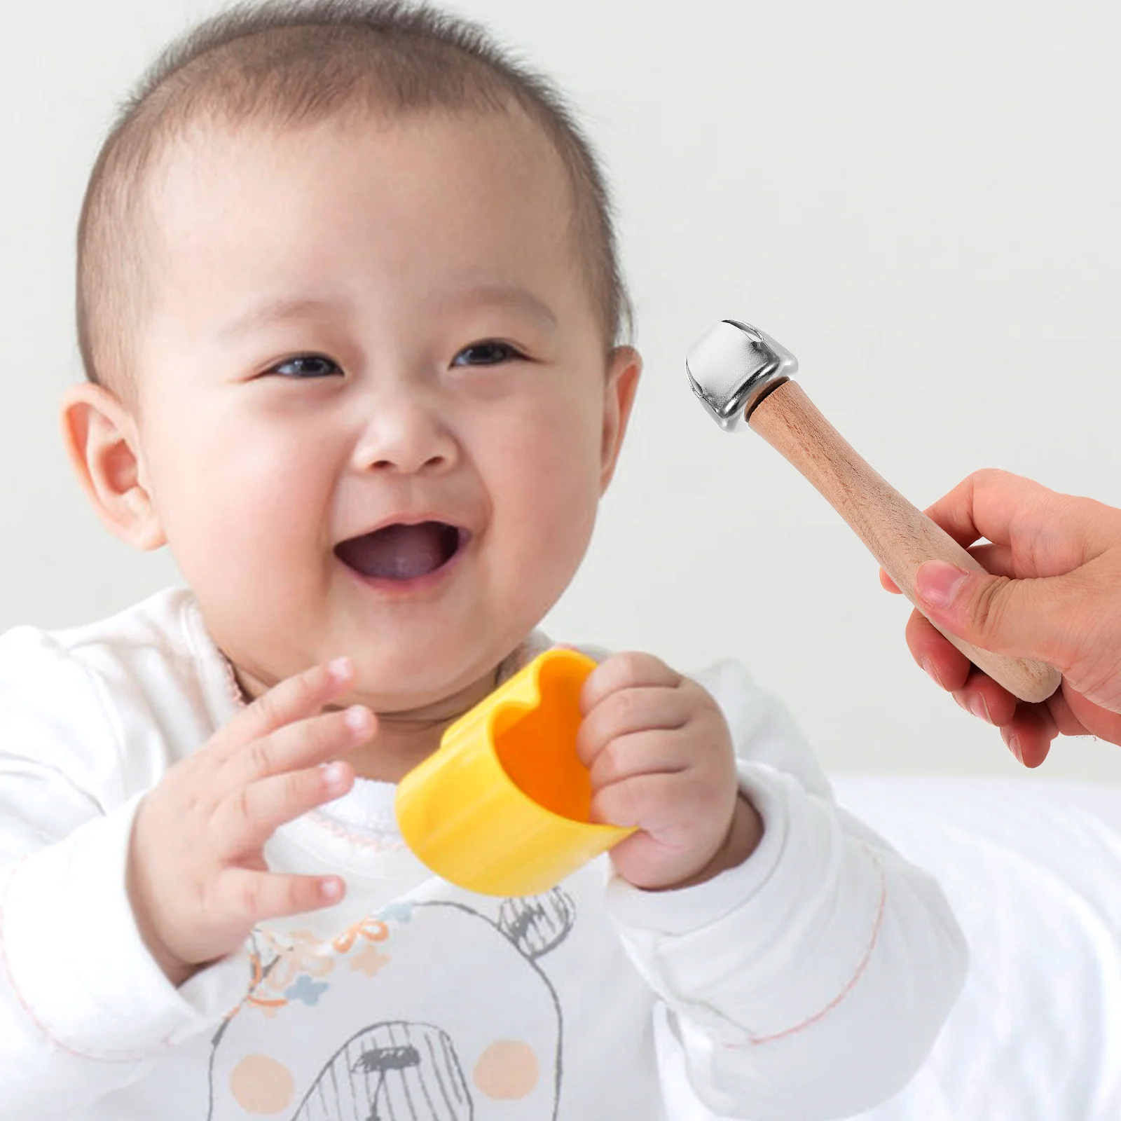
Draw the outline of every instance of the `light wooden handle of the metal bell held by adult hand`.
<instances>
[{"instance_id":1,"label":"light wooden handle of the metal bell held by adult hand","mask_svg":"<svg viewBox=\"0 0 1121 1121\"><path fill-rule=\"evenodd\" d=\"M748 423L817 488L919 611L915 574L925 560L948 560L960 568L985 571L941 526L878 475L797 382L787 381L770 392ZM1041 661L980 650L941 627L938 630L1021 701L1044 701L1058 688L1058 670Z\"/></svg>"}]
</instances>

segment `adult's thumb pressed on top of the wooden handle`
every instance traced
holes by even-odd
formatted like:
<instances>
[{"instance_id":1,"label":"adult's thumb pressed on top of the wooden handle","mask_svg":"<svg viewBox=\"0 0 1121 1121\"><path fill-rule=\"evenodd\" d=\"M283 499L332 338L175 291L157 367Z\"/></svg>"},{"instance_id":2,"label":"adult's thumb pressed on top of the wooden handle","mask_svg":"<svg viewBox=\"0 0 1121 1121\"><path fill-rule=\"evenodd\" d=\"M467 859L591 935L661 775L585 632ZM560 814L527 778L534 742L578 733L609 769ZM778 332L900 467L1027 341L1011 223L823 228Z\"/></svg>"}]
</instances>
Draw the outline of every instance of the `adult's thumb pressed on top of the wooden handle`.
<instances>
[{"instance_id":1,"label":"adult's thumb pressed on top of the wooden handle","mask_svg":"<svg viewBox=\"0 0 1121 1121\"><path fill-rule=\"evenodd\" d=\"M1060 577L1011 580L927 560L915 574L919 605L932 622L993 654L1063 665L1067 627Z\"/></svg>"}]
</instances>

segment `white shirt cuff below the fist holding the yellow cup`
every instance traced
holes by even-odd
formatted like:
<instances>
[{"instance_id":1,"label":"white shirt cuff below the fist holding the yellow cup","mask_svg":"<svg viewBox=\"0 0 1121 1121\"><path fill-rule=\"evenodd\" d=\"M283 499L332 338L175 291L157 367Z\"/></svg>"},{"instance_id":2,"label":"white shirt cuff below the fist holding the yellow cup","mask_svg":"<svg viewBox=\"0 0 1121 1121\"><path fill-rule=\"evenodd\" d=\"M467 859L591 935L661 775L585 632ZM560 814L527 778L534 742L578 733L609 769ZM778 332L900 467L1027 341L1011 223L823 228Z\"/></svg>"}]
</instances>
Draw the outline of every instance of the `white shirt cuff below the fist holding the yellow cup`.
<instances>
[{"instance_id":1,"label":"white shirt cuff below the fist holding the yellow cup","mask_svg":"<svg viewBox=\"0 0 1121 1121\"><path fill-rule=\"evenodd\" d=\"M878 859L831 805L766 765L741 765L740 778L765 832L739 868L677 891L608 888L650 986L733 1045L800 1031L836 1006L864 972L886 900Z\"/></svg>"}]
</instances>

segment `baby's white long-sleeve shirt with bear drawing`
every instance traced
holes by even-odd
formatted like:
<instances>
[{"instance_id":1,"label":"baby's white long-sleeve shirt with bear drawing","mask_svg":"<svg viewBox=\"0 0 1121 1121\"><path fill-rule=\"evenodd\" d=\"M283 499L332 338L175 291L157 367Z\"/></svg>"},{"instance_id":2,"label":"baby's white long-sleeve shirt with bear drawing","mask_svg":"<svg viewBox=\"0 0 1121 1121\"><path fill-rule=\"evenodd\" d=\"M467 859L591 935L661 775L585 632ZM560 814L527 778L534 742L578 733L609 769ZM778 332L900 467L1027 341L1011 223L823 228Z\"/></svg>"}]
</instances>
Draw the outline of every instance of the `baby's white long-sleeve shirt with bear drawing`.
<instances>
[{"instance_id":1,"label":"baby's white long-sleeve shirt with bear drawing","mask_svg":"<svg viewBox=\"0 0 1121 1121\"><path fill-rule=\"evenodd\" d=\"M895 1093L962 985L957 925L742 669L697 680L765 824L739 868L646 892L604 856L544 896L475 896L404 845L393 787L359 779L266 847L276 871L341 873L343 901L176 989L126 855L145 793L237 712L229 664L183 589L0 637L0 1121L656 1121L656 1013L717 1113Z\"/></svg>"}]
</instances>

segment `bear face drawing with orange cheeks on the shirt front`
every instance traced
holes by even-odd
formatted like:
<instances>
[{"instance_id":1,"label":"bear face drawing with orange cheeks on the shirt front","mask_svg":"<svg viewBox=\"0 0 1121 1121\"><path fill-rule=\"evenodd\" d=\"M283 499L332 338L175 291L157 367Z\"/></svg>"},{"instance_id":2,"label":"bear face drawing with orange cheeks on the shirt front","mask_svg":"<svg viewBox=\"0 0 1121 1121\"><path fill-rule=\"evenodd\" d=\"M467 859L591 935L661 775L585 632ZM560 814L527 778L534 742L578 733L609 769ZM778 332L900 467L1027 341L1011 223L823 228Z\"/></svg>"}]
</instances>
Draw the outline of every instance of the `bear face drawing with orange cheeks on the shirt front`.
<instances>
[{"instance_id":1,"label":"bear face drawing with orange cheeks on the shirt front","mask_svg":"<svg viewBox=\"0 0 1121 1121\"><path fill-rule=\"evenodd\" d=\"M563 1021L537 958L574 921L555 888L497 919L418 901L328 943L256 937L251 991L212 1040L207 1121L555 1118Z\"/></svg>"}]
</instances>

